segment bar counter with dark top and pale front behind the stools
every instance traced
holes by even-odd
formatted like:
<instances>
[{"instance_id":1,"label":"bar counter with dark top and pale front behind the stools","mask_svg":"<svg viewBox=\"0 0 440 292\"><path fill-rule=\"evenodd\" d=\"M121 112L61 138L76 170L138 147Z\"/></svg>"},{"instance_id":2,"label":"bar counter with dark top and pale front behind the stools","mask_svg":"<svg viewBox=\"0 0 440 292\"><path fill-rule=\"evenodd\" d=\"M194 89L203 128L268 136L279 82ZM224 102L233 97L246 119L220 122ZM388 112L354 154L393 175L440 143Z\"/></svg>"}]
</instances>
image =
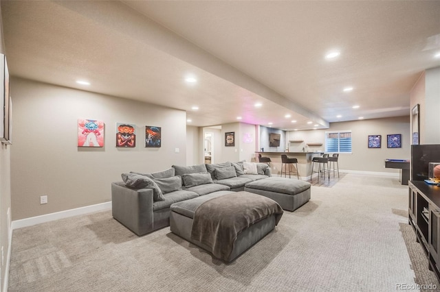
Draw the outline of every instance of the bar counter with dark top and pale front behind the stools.
<instances>
[{"instance_id":1,"label":"bar counter with dark top and pale front behind the stools","mask_svg":"<svg viewBox=\"0 0 440 292\"><path fill-rule=\"evenodd\" d=\"M258 162L258 156L261 154L263 157L269 157L272 161L270 163L272 167L273 175L281 175L281 154L287 155L287 158L298 159L298 171L300 178L303 180L308 180L311 173L311 160L316 156L321 156L322 152L270 152L270 151L255 151L255 161ZM296 171L295 165L290 166L293 171ZM289 169L289 165L287 165ZM284 177L284 167L283 167L283 177ZM289 174L287 173L287 178ZM291 175L292 177L292 175ZM296 177L296 175L294 175Z\"/></svg>"}]
</instances>

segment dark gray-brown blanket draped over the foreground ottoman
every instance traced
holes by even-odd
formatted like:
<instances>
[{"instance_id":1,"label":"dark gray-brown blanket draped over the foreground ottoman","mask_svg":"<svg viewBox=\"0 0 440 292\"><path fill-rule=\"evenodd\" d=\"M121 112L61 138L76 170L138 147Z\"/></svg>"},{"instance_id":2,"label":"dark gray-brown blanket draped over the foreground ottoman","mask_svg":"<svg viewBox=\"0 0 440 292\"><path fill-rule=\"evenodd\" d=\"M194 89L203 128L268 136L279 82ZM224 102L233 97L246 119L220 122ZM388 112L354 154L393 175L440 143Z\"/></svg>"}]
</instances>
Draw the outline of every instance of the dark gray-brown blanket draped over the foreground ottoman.
<instances>
[{"instance_id":1,"label":"dark gray-brown blanket draped over the foreground ottoman","mask_svg":"<svg viewBox=\"0 0 440 292\"><path fill-rule=\"evenodd\" d=\"M248 192L237 192L210 199L195 210L191 239L211 248L217 258L228 261L237 235L271 215L276 224L283 209L274 200Z\"/></svg>"}]
</instances>

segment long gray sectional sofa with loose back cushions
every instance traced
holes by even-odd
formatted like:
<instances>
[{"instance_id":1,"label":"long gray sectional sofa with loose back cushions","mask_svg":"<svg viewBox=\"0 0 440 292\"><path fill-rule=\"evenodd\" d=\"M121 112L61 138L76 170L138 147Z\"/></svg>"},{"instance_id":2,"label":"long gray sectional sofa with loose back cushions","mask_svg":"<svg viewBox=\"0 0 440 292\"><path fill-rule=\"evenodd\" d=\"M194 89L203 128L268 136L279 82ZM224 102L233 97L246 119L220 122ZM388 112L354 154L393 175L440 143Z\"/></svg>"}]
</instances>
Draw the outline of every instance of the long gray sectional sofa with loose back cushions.
<instances>
[{"instance_id":1,"label":"long gray sectional sofa with loose back cushions","mask_svg":"<svg viewBox=\"0 0 440 292\"><path fill-rule=\"evenodd\" d=\"M170 225L170 206L187 199L224 191L243 191L245 184L272 176L264 163L223 162L157 173L123 173L111 184L113 218L142 236Z\"/></svg>"}]
</instances>

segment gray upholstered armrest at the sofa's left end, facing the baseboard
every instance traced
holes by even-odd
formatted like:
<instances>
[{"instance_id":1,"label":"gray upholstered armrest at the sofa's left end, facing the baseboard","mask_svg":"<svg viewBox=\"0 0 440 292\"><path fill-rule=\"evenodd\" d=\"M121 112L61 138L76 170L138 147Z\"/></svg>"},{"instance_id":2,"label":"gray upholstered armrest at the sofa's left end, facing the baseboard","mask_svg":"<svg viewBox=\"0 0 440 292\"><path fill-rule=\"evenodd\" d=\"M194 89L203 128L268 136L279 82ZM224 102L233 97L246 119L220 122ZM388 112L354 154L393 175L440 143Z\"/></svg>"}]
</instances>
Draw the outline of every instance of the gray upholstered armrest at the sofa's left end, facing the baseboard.
<instances>
[{"instance_id":1,"label":"gray upholstered armrest at the sofa's left end, facing the baseboard","mask_svg":"<svg viewBox=\"0 0 440 292\"><path fill-rule=\"evenodd\" d=\"M111 213L138 236L153 231L153 189L129 188L124 182L112 182Z\"/></svg>"}]
</instances>

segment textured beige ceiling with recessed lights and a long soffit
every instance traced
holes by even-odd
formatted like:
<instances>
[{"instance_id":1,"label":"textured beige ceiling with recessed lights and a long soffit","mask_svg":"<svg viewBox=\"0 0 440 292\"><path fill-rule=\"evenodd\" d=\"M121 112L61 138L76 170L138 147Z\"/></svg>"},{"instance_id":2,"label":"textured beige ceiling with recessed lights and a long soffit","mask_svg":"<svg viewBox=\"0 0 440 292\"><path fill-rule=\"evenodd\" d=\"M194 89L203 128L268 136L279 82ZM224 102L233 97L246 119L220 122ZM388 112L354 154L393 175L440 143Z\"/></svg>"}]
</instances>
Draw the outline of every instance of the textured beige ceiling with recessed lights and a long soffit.
<instances>
[{"instance_id":1,"label":"textured beige ceiling with recessed lights and a long soffit","mask_svg":"<svg viewBox=\"0 0 440 292\"><path fill-rule=\"evenodd\" d=\"M421 72L440 66L440 1L2 1L1 10L11 75L186 110L197 126L240 116L292 130L406 115ZM340 56L325 60L332 49Z\"/></svg>"}]
</instances>

